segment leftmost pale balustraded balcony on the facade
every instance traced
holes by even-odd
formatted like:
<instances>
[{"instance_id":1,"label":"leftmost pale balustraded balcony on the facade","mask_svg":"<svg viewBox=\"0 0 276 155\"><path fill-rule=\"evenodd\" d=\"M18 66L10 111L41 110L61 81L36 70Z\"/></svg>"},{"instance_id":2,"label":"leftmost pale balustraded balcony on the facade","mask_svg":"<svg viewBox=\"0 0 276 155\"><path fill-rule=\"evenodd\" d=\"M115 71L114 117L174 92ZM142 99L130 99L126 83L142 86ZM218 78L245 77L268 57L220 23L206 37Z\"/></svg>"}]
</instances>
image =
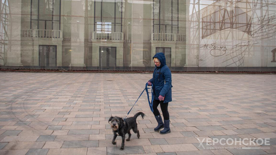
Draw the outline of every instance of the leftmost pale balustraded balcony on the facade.
<instances>
[{"instance_id":1,"label":"leftmost pale balustraded balcony on the facade","mask_svg":"<svg viewBox=\"0 0 276 155\"><path fill-rule=\"evenodd\" d=\"M63 34L61 30L23 29L21 30L21 37L63 38Z\"/></svg>"}]
</instances>

